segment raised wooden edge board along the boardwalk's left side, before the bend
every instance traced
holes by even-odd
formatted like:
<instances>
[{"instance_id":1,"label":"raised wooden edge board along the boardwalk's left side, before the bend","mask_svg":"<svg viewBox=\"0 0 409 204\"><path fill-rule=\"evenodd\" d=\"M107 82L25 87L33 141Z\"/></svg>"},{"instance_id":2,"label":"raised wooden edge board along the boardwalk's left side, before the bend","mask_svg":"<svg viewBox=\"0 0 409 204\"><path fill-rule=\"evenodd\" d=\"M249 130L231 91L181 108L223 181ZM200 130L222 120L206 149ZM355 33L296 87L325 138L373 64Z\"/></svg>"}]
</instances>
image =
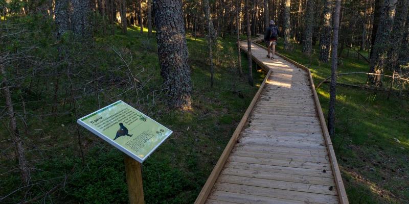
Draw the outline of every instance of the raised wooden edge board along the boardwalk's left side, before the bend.
<instances>
[{"instance_id":1,"label":"raised wooden edge board along the boardwalk's left side, before the bend","mask_svg":"<svg viewBox=\"0 0 409 204\"><path fill-rule=\"evenodd\" d=\"M259 90L257 91L256 95L254 96L252 102L248 106L244 116L241 118L239 124L237 125L236 130L233 133L233 136L230 138L229 143L224 148L219 160L216 163L216 166L213 168L212 173L210 174L208 180L206 181L205 185L203 186L202 190L200 191L199 195L197 196L195 203L202 204L205 203L207 197L209 196L210 191L212 190L213 184L216 182L217 176L219 175L221 169L223 168L224 163L226 162L227 158L229 157L230 151L233 149L234 144L240 132L247 121L251 111L253 110L254 105L256 104L257 98L260 96L261 91L267 81L268 76L271 74L271 70L268 71L266 77L264 78L263 83L260 85Z\"/></svg>"}]
</instances>

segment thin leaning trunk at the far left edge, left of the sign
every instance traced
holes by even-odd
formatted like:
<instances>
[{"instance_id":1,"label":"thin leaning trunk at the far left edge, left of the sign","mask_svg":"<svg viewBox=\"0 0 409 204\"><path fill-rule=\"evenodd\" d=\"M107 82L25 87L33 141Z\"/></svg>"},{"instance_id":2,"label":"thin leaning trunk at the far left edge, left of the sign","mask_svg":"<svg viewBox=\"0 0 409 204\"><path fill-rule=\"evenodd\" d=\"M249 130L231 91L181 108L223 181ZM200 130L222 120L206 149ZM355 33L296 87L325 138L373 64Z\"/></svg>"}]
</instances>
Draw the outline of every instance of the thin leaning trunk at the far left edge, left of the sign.
<instances>
[{"instance_id":1,"label":"thin leaning trunk at the far left edge, left of the sign","mask_svg":"<svg viewBox=\"0 0 409 204\"><path fill-rule=\"evenodd\" d=\"M11 92L10 92L10 86L8 85L7 81L7 74L5 67L3 65L3 57L0 56L0 73L2 75L2 80L3 80L3 95L6 100L6 107L7 107L7 113L9 115L10 119L10 126L11 126L11 137L13 139L14 145L16 147L17 151L17 157L18 157L18 165L20 168L21 172L21 178L22 181L27 184L30 180L30 171L27 165L27 160L24 152L24 147L23 144L24 142L21 139L21 136L18 132L17 129L17 121L15 117L15 112L13 108L13 101L11 99Z\"/></svg>"}]
</instances>

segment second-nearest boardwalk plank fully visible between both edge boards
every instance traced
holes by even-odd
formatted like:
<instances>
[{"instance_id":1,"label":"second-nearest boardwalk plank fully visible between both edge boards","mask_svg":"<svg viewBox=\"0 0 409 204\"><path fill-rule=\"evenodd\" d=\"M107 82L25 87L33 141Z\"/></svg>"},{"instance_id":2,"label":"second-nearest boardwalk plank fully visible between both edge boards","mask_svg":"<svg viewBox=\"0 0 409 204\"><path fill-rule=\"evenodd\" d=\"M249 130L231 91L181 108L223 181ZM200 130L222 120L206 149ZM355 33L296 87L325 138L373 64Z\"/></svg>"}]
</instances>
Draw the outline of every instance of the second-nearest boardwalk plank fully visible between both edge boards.
<instances>
[{"instance_id":1,"label":"second-nearest boardwalk plank fully visible between both edge boards","mask_svg":"<svg viewBox=\"0 0 409 204\"><path fill-rule=\"evenodd\" d=\"M236 176L236 175L220 174L217 181L223 182L223 183L229 183L229 184L240 184L240 185L246 185L246 186L276 188L276 189L309 192L309 193L321 193L321 194L327 194L327 195L337 194L335 189L329 190L330 187L324 186L324 185L284 182L284 181L277 181L277 180L265 180L265 179L257 179L257 178L250 178L250 177L243 177L243 176Z\"/></svg>"}]
</instances>

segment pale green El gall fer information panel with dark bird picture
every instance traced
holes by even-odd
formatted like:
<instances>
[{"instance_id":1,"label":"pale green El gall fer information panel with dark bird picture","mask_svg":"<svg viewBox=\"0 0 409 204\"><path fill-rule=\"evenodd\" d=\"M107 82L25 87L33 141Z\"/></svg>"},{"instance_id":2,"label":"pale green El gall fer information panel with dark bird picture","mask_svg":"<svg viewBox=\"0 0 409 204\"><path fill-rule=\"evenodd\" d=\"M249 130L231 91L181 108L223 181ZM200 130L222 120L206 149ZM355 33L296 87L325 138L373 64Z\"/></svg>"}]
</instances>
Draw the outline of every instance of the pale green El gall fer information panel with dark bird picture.
<instances>
[{"instance_id":1,"label":"pale green El gall fer information panel with dark bird picture","mask_svg":"<svg viewBox=\"0 0 409 204\"><path fill-rule=\"evenodd\" d=\"M140 163L172 134L171 130L122 100L77 122Z\"/></svg>"}]
</instances>

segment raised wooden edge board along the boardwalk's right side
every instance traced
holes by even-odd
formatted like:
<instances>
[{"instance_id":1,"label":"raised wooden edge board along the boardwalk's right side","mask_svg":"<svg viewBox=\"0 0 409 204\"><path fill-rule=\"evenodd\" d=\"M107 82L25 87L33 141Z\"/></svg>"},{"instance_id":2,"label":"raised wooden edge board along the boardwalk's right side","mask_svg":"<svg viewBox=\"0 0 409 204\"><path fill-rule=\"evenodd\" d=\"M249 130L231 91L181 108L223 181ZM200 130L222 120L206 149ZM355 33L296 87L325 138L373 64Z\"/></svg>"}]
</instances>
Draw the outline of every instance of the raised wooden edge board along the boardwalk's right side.
<instances>
[{"instance_id":1,"label":"raised wooden edge board along the boardwalk's right side","mask_svg":"<svg viewBox=\"0 0 409 204\"><path fill-rule=\"evenodd\" d=\"M253 43L265 49L264 46L262 46L262 45L260 45L260 44L258 44L256 42L253 42ZM328 154L329 154L329 157L330 157L330 162L331 162L331 166L332 166L333 173L334 173L335 184L336 184L336 188L337 188L338 195L339 195L339 202L341 204L347 204L347 203L349 203L347 193L345 191L344 182L342 181L342 176L341 176L341 173L339 171L338 162L336 161L335 151L334 151L334 148L332 146L331 138L329 136L327 123L325 122L325 117L324 117L324 114L323 114L323 110L321 108L320 100L319 100L318 95L317 95L316 90L315 90L314 81L312 80L311 71L310 71L310 69L308 67L306 67L306 66L304 66L304 65L302 65L302 64L300 64L300 63L298 63L296 61L293 61L293 60L291 60L291 59L289 59L289 58L287 58L287 57L285 57L285 56L283 56L283 55L281 55L281 54L279 54L277 52L276 52L276 55L308 72L308 78L309 78L310 85L311 85L311 91L312 91L312 94L314 95L315 106L317 108L318 116L319 116L320 121L321 121L321 126L322 126L322 129L323 129L325 143L327 145Z\"/></svg>"}]
</instances>

